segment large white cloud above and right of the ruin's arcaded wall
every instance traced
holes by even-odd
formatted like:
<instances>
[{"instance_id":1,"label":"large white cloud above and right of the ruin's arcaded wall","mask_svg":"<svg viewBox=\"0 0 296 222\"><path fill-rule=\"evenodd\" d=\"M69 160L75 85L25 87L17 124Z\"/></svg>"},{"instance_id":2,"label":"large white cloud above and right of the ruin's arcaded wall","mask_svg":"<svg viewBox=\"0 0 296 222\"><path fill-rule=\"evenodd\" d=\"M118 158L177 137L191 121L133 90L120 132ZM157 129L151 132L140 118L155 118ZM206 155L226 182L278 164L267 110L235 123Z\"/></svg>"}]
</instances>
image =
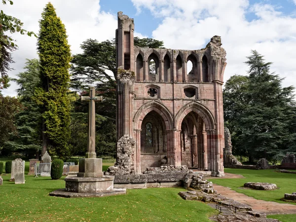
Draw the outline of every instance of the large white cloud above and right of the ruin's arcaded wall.
<instances>
[{"instance_id":1,"label":"large white cloud above and right of the ruin's arcaded wall","mask_svg":"<svg viewBox=\"0 0 296 222\"><path fill-rule=\"evenodd\" d=\"M243 62L255 49L266 61L273 62L272 72L286 77L284 86L296 86L296 18L281 13L279 5L250 5L248 0L132 2L138 13L145 7L162 19L152 37L163 40L168 48L199 49L214 35L221 36L227 52L224 81L233 74L246 74L248 67ZM248 21L248 13L253 13L255 19Z\"/></svg>"}]
</instances>

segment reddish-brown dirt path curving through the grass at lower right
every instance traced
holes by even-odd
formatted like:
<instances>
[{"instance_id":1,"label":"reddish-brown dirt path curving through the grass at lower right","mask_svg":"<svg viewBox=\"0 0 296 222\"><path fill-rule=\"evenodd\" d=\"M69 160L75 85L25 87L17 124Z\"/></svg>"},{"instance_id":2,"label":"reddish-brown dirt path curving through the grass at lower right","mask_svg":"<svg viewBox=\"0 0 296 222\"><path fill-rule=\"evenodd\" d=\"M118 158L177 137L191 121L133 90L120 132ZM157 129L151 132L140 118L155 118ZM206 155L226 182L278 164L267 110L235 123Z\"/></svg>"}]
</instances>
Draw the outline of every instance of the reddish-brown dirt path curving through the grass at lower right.
<instances>
[{"instance_id":1,"label":"reddish-brown dirt path curving through the grass at lower right","mask_svg":"<svg viewBox=\"0 0 296 222\"><path fill-rule=\"evenodd\" d=\"M237 175L241 176L241 175ZM233 177L234 178L234 177ZM238 193L229 187L213 184L214 189L223 196L247 204L253 208L253 211L263 212L265 214L296 214L296 205L277 203L273 201L257 200L243 193Z\"/></svg>"}]
</instances>

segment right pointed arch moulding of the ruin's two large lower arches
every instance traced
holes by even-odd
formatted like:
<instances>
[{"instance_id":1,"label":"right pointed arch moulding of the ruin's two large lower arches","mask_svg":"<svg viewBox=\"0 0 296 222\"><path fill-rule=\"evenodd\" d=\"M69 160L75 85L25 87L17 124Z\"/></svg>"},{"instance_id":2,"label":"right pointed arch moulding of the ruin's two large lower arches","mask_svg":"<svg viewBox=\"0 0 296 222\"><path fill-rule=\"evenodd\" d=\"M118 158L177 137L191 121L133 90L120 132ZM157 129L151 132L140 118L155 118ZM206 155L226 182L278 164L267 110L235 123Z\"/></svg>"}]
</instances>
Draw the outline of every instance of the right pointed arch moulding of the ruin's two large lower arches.
<instances>
[{"instance_id":1,"label":"right pointed arch moulding of the ruin's two large lower arches","mask_svg":"<svg viewBox=\"0 0 296 222\"><path fill-rule=\"evenodd\" d=\"M216 120L214 118L214 115L212 112L203 104L198 102L190 102L187 103L184 107L182 107L177 115L176 115L176 128L181 129L181 124L185 116L189 112L195 112L197 113L204 121L206 129L216 129Z\"/></svg>"}]
</instances>

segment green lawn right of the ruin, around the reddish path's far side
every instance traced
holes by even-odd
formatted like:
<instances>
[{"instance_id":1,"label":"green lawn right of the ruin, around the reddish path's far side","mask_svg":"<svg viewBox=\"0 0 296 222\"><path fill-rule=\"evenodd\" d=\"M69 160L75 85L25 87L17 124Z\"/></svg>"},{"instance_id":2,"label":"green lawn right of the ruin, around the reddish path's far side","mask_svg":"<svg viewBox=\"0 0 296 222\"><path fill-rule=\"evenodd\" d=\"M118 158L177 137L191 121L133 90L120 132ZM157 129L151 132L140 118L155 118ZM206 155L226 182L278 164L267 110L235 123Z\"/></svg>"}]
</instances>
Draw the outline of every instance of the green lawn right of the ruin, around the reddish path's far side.
<instances>
[{"instance_id":1,"label":"green lawn right of the ruin, around the reddish path's far side","mask_svg":"<svg viewBox=\"0 0 296 222\"><path fill-rule=\"evenodd\" d=\"M278 203L288 203L280 200L285 193L296 192L296 174L277 173L274 170L246 170L246 169L227 169L226 173L240 174L245 178L240 179L208 179L214 184L230 187L231 189L252 196L259 200L275 201ZM276 184L276 190L253 190L242 189L244 183L263 182ZM296 203L290 203L296 204ZM268 218L278 219L282 222L296 222L296 214L288 215L269 215Z\"/></svg>"}]
</instances>

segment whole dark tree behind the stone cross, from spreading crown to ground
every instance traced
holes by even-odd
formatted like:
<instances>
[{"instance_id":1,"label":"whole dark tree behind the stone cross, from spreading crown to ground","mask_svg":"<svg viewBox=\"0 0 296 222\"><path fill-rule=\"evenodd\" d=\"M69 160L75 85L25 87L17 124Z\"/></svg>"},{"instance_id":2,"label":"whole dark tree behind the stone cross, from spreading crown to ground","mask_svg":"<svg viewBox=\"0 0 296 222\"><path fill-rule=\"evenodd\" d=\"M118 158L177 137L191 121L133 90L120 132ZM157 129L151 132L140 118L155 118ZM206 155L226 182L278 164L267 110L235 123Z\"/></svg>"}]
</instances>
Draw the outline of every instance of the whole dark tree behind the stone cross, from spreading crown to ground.
<instances>
[{"instance_id":1,"label":"whole dark tree behind the stone cross, from spreading crown to ground","mask_svg":"<svg viewBox=\"0 0 296 222\"><path fill-rule=\"evenodd\" d=\"M155 39L135 37L134 40L135 45L140 47L159 48L163 46L162 41ZM87 39L80 47L83 52L74 55L72 59L71 87L82 91L80 95L87 96L88 86L96 84L96 95L104 98L103 103L96 104L96 150L98 155L113 155L116 150L115 39L102 42ZM87 142L87 128L85 128L87 112L87 104L82 104L80 100L74 102L72 116L79 116L79 118L72 118L71 128L74 135L71 136L71 145L76 150L83 150L80 153L82 155L85 154Z\"/></svg>"}]
</instances>

